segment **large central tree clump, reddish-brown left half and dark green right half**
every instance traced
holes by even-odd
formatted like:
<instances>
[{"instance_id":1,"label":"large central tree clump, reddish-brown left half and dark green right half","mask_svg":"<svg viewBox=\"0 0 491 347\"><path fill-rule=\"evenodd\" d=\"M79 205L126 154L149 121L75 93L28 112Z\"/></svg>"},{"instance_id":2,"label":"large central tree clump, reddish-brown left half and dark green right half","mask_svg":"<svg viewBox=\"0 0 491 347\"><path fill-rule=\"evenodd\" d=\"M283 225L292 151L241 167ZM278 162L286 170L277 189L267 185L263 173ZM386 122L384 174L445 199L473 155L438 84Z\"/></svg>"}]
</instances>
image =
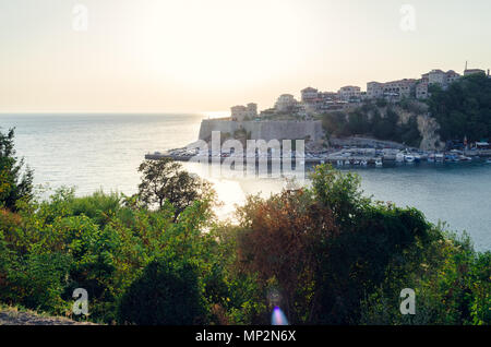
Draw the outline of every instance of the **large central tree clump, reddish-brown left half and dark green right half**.
<instances>
[{"instance_id":1,"label":"large central tree clump, reddish-brown left half and dark green right half","mask_svg":"<svg viewBox=\"0 0 491 347\"><path fill-rule=\"evenodd\" d=\"M430 228L418 211L374 203L357 176L326 165L311 189L249 199L239 223L237 266L278 288L294 324L356 324L363 297Z\"/></svg>"}]
</instances>

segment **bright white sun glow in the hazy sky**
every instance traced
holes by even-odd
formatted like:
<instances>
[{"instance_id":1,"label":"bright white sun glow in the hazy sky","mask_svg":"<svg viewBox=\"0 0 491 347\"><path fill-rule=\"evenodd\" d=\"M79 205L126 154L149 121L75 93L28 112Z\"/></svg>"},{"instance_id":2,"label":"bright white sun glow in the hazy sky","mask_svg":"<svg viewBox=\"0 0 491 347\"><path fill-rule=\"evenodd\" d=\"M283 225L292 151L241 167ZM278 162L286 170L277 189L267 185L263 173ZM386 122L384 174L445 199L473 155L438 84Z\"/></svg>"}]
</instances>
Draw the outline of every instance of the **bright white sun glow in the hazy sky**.
<instances>
[{"instance_id":1,"label":"bright white sun glow in the hazy sky","mask_svg":"<svg viewBox=\"0 0 491 347\"><path fill-rule=\"evenodd\" d=\"M154 3L131 26L127 50L156 79L212 91L252 87L296 68L299 11L277 0Z\"/></svg>"}]
</instances>

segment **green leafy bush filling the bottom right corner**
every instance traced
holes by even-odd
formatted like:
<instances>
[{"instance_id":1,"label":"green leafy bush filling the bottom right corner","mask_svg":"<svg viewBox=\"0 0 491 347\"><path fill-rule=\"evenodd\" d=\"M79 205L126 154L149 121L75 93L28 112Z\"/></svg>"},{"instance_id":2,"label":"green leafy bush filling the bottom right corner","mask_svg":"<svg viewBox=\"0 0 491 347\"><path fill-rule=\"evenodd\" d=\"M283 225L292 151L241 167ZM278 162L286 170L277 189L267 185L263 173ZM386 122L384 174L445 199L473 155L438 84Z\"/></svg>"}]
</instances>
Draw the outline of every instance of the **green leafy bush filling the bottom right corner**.
<instances>
[{"instance_id":1,"label":"green leafy bush filling the bottom right corner","mask_svg":"<svg viewBox=\"0 0 491 347\"><path fill-rule=\"evenodd\" d=\"M419 262L393 266L380 288L363 300L361 324L491 323L491 252L475 252L467 236L457 238L441 226L433 231L433 241L418 248ZM402 287L416 290L414 316L399 313Z\"/></svg>"}]
</instances>

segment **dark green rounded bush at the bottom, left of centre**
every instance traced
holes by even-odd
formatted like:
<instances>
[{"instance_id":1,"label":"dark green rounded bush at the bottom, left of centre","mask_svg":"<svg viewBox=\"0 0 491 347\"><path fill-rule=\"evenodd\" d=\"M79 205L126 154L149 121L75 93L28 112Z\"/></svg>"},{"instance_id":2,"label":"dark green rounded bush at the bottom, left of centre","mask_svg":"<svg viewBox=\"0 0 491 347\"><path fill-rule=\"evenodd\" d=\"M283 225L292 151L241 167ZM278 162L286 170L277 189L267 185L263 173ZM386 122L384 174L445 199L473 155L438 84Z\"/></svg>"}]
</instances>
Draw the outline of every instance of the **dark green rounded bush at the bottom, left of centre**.
<instances>
[{"instance_id":1,"label":"dark green rounded bush at the bottom, left of centre","mask_svg":"<svg viewBox=\"0 0 491 347\"><path fill-rule=\"evenodd\" d=\"M187 261L158 260L124 292L118 321L139 325L205 323L206 308L197 268Z\"/></svg>"}]
</instances>

